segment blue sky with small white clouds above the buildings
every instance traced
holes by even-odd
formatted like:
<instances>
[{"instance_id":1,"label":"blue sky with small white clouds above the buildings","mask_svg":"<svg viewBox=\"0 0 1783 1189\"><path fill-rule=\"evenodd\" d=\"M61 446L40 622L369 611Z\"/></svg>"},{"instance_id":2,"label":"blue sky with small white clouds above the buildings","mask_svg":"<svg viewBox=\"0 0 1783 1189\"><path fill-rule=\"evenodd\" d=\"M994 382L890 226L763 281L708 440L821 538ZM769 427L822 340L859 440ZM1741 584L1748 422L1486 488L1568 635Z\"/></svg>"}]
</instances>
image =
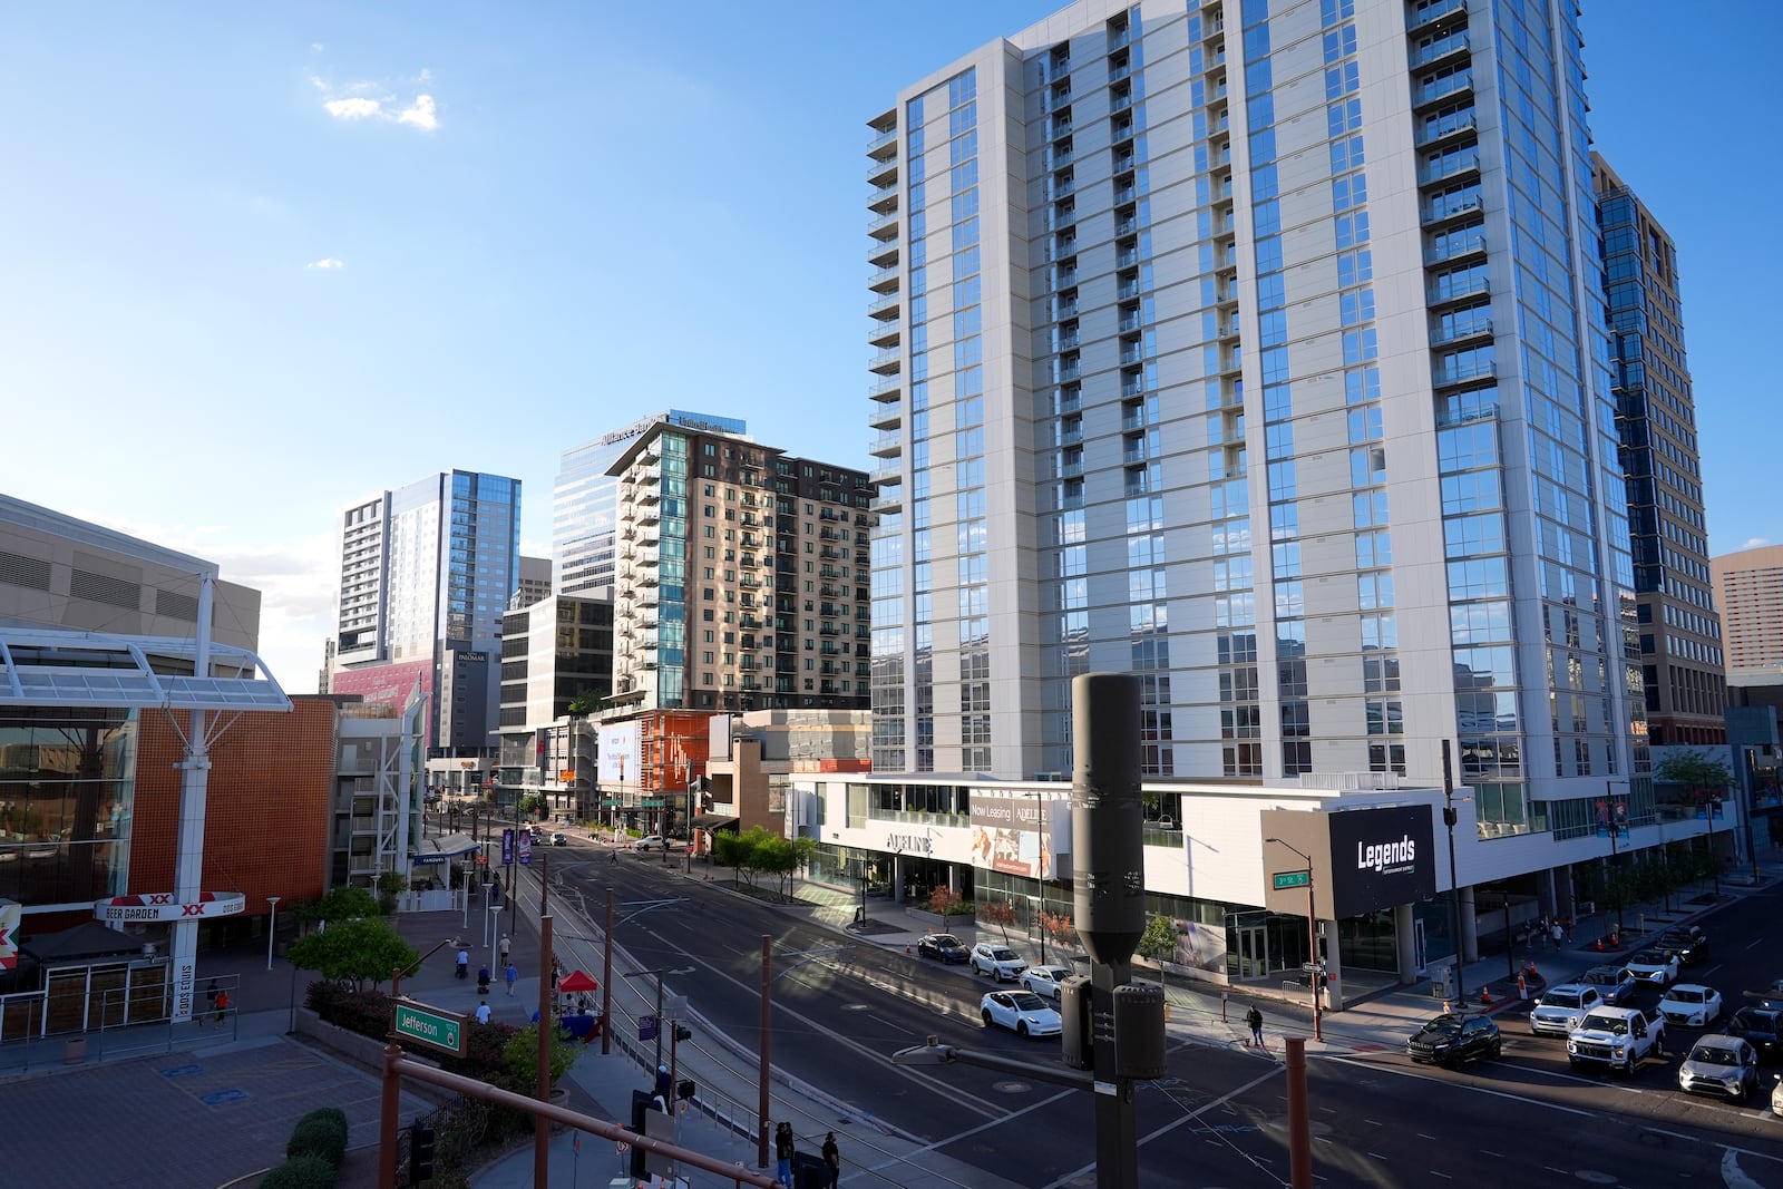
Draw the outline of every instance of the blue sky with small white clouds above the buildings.
<instances>
[{"instance_id":1,"label":"blue sky with small white clouds above the buildings","mask_svg":"<svg viewBox=\"0 0 1783 1189\"><path fill-rule=\"evenodd\" d=\"M667 406L870 467L865 121L1056 7L0 7L0 490L221 562L310 692L366 494L512 474L546 554L560 453ZM1712 549L1774 540L1783 5L1585 32L1678 241Z\"/></svg>"}]
</instances>

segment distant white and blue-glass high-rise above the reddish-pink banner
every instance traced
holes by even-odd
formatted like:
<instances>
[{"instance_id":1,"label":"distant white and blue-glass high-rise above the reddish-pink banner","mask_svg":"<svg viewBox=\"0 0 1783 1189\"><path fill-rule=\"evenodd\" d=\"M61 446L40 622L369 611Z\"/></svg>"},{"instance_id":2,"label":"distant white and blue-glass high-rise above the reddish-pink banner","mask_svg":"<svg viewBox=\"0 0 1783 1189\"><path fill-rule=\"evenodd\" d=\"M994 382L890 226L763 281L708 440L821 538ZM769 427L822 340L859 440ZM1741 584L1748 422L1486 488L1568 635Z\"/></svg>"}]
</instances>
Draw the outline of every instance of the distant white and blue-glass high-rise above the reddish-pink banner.
<instances>
[{"instance_id":1,"label":"distant white and blue-glass high-rise above the reddish-pink banner","mask_svg":"<svg viewBox=\"0 0 1783 1189\"><path fill-rule=\"evenodd\" d=\"M348 508L330 688L369 697L380 668L407 665L430 699L428 747L492 754L519 540L521 481L499 474L446 471Z\"/></svg>"}]
</instances>

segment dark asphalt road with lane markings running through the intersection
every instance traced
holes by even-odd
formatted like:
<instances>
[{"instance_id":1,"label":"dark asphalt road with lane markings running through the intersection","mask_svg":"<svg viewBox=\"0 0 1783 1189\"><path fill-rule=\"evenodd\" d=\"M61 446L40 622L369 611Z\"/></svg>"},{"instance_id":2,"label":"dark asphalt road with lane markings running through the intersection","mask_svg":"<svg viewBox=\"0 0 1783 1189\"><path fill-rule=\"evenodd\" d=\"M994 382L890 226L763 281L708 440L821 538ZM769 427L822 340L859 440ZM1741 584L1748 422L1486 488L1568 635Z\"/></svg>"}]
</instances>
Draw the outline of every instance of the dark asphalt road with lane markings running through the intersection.
<instances>
[{"instance_id":1,"label":"dark asphalt road with lane markings running through the intersection","mask_svg":"<svg viewBox=\"0 0 1783 1189\"><path fill-rule=\"evenodd\" d=\"M590 857L592 856L592 857ZM1031 1185L1093 1185L1091 1103L1080 1091L970 1066L893 1066L890 1054L927 1036L1056 1064L1057 1039L1025 1041L977 1023L988 979L941 968L688 881L683 861L553 850L553 870L596 907L615 886L615 936L651 966L694 966L672 989L717 1030L760 1045L761 936L774 938L772 1057L793 1077L956 1159ZM713 870L724 884L729 872ZM663 897L679 902L637 909ZM1783 977L1776 916L1783 895L1735 900L1703 922L1712 957L1683 980L1717 986L1731 1013L1747 986ZM1633 923L1633 922L1630 922ZM1651 1007L1658 991L1637 1000ZM1683 1095L1678 1052L1696 1030L1672 1029L1669 1057L1635 1077L1580 1077L1560 1037L1500 1018L1505 1055L1462 1071L1414 1066L1400 1052L1319 1055L1309 1062L1314 1171L1330 1185L1689 1184L1783 1185L1783 1119L1765 1096L1735 1105ZM710 1055L724 1054L695 1037ZM740 1057L726 1057L747 1070ZM1286 1185L1286 1073L1243 1048L1179 1045L1170 1077L1138 1098L1141 1185Z\"/></svg>"}]
</instances>

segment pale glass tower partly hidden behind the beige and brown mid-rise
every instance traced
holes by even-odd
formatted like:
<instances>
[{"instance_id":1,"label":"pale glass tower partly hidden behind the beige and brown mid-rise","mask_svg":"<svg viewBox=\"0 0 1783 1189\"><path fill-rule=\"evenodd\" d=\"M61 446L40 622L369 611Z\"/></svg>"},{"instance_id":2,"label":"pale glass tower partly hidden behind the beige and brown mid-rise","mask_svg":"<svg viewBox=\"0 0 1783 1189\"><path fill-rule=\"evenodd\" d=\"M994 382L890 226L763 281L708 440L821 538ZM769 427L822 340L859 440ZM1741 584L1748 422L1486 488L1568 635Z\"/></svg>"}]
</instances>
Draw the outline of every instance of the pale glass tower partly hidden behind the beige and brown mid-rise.
<instances>
[{"instance_id":1,"label":"pale glass tower partly hidden behind the beige and brown mid-rise","mask_svg":"<svg viewBox=\"0 0 1783 1189\"><path fill-rule=\"evenodd\" d=\"M556 560L556 590L581 594L613 585L613 551L619 517L619 480L608 474L638 437L656 422L683 430L711 430L744 437L749 424L738 417L688 414L665 408L640 417L592 442L563 451L551 510L551 553Z\"/></svg>"}]
</instances>

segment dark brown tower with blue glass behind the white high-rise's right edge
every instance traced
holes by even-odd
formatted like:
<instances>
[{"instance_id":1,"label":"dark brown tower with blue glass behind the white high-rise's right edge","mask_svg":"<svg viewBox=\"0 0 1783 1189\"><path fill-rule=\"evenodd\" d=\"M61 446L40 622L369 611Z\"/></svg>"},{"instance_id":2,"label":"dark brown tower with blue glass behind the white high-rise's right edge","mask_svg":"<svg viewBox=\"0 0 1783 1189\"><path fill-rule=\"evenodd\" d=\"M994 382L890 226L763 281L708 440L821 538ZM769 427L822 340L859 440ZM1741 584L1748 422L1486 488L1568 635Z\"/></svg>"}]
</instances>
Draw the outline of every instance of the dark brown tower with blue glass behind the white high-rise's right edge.
<instances>
[{"instance_id":1,"label":"dark brown tower with blue glass behind the white high-rise's right edge","mask_svg":"<svg viewBox=\"0 0 1783 1189\"><path fill-rule=\"evenodd\" d=\"M1601 155L1590 155L1590 168L1603 230L1615 424L1628 476L1647 742L1726 743L1728 688L1710 586L1678 248Z\"/></svg>"}]
</instances>

